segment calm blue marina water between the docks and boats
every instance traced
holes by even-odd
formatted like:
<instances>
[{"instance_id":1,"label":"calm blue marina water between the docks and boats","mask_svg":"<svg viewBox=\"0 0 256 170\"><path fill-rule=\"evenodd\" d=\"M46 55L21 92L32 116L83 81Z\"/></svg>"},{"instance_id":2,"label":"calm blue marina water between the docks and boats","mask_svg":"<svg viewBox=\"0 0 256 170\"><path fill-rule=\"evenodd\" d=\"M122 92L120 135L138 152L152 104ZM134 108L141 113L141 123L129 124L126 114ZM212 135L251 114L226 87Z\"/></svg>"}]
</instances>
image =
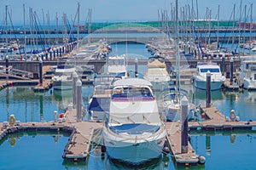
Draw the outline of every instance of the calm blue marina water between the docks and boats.
<instances>
[{"instance_id":1,"label":"calm blue marina water between the docks and boats","mask_svg":"<svg viewBox=\"0 0 256 170\"><path fill-rule=\"evenodd\" d=\"M117 50L113 45L112 54L137 54L132 57L148 58L149 54L142 44L118 44ZM129 65L128 70L133 71L134 66ZM143 75L146 67L139 65ZM206 93L191 86L182 86L189 91L189 99L196 105L205 104ZM86 106L92 95L93 86L82 88L83 101ZM49 90L43 94L34 94L32 87L12 87L0 92L0 122L8 121L9 115L14 114L20 122L48 122L53 120L54 111L63 112L72 102L72 91ZM212 92L212 105L216 106L225 116L230 115L234 109L241 120L256 121L256 92ZM193 169L252 169L256 161L255 133L191 133L191 144L196 153L205 156L204 166ZM58 136L58 137L56 137ZM15 138L15 146L9 141ZM40 142L38 142L40 141ZM107 155L99 152L96 145L90 151L87 162L73 164L61 158L67 136L61 134L28 134L18 133L2 140L0 145L0 169L175 169L172 156L163 156L140 167L129 167L123 163L113 162ZM30 147L27 147L30 146ZM15 161L14 161L15 160ZM12 163L15 162L15 163ZM181 167L183 169L183 167Z\"/></svg>"}]
</instances>

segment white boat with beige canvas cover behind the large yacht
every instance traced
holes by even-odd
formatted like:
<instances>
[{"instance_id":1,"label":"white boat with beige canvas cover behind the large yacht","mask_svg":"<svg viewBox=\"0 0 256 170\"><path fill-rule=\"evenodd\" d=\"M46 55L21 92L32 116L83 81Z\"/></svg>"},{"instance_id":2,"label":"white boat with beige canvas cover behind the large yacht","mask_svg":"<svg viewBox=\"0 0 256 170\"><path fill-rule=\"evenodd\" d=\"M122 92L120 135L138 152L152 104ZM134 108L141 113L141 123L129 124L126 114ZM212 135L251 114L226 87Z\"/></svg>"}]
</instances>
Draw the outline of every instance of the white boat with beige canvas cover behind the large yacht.
<instances>
[{"instance_id":1,"label":"white boat with beige canvas cover behind the large yacht","mask_svg":"<svg viewBox=\"0 0 256 170\"><path fill-rule=\"evenodd\" d=\"M166 71L166 64L160 62L159 59L149 61L147 65L147 71L144 74L144 79L149 82L169 82L170 76Z\"/></svg>"}]
</instances>

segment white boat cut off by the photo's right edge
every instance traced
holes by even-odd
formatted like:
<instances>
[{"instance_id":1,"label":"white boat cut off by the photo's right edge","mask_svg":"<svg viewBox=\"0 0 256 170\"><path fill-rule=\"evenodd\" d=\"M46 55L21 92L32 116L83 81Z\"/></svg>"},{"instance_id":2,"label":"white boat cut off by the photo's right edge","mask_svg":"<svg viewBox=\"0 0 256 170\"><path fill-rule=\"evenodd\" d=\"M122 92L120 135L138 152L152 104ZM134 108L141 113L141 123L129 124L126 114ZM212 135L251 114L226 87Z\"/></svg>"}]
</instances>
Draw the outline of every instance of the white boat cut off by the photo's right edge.
<instances>
[{"instance_id":1,"label":"white boat cut off by the photo's right edge","mask_svg":"<svg viewBox=\"0 0 256 170\"><path fill-rule=\"evenodd\" d=\"M256 56L241 57L239 85L247 90L256 90Z\"/></svg>"}]
</instances>

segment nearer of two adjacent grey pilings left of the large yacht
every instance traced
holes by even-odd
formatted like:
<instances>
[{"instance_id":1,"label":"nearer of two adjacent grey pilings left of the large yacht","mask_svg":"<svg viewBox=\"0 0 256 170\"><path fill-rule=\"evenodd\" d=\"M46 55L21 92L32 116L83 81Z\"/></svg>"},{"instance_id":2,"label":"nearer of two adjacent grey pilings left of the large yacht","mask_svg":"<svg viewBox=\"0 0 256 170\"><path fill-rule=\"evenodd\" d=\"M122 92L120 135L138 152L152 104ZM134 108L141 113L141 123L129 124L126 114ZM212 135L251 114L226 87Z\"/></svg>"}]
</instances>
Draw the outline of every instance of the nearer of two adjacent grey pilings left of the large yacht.
<instances>
[{"instance_id":1,"label":"nearer of two adjacent grey pilings left of the large yacht","mask_svg":"<svg viewBox=\"0 0 256 170\"><path fill-rule=\"evenodd\" d=\"M77 122L82 121L82 82L78 79L76 82L77 88Z\"/></svg>"}]
</instances>

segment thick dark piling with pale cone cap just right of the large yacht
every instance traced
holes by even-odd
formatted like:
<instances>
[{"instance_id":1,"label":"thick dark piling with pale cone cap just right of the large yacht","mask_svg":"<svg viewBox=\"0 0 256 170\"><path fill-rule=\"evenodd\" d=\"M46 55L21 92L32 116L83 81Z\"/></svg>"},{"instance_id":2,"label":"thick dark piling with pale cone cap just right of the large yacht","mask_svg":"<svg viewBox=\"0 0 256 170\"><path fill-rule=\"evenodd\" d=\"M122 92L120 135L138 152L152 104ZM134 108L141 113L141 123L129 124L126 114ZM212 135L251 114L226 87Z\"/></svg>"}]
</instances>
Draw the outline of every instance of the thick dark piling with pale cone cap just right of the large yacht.
<instances>
[{"instance_id":1,"label":"thick dark piling with pale cone cap just right of the large yacht","mask_svg":"<svg viewBox=\"0 0 256 170\"><path fill-rule=\"evenodd\" d=\"M188 123L188 107L189 100L186 96L181 100L181 108L182 108L182 132L181 132L181 150L182 153L188 153L188 141L189 141L189 123Z\"/></svg>"}]
</instances>

